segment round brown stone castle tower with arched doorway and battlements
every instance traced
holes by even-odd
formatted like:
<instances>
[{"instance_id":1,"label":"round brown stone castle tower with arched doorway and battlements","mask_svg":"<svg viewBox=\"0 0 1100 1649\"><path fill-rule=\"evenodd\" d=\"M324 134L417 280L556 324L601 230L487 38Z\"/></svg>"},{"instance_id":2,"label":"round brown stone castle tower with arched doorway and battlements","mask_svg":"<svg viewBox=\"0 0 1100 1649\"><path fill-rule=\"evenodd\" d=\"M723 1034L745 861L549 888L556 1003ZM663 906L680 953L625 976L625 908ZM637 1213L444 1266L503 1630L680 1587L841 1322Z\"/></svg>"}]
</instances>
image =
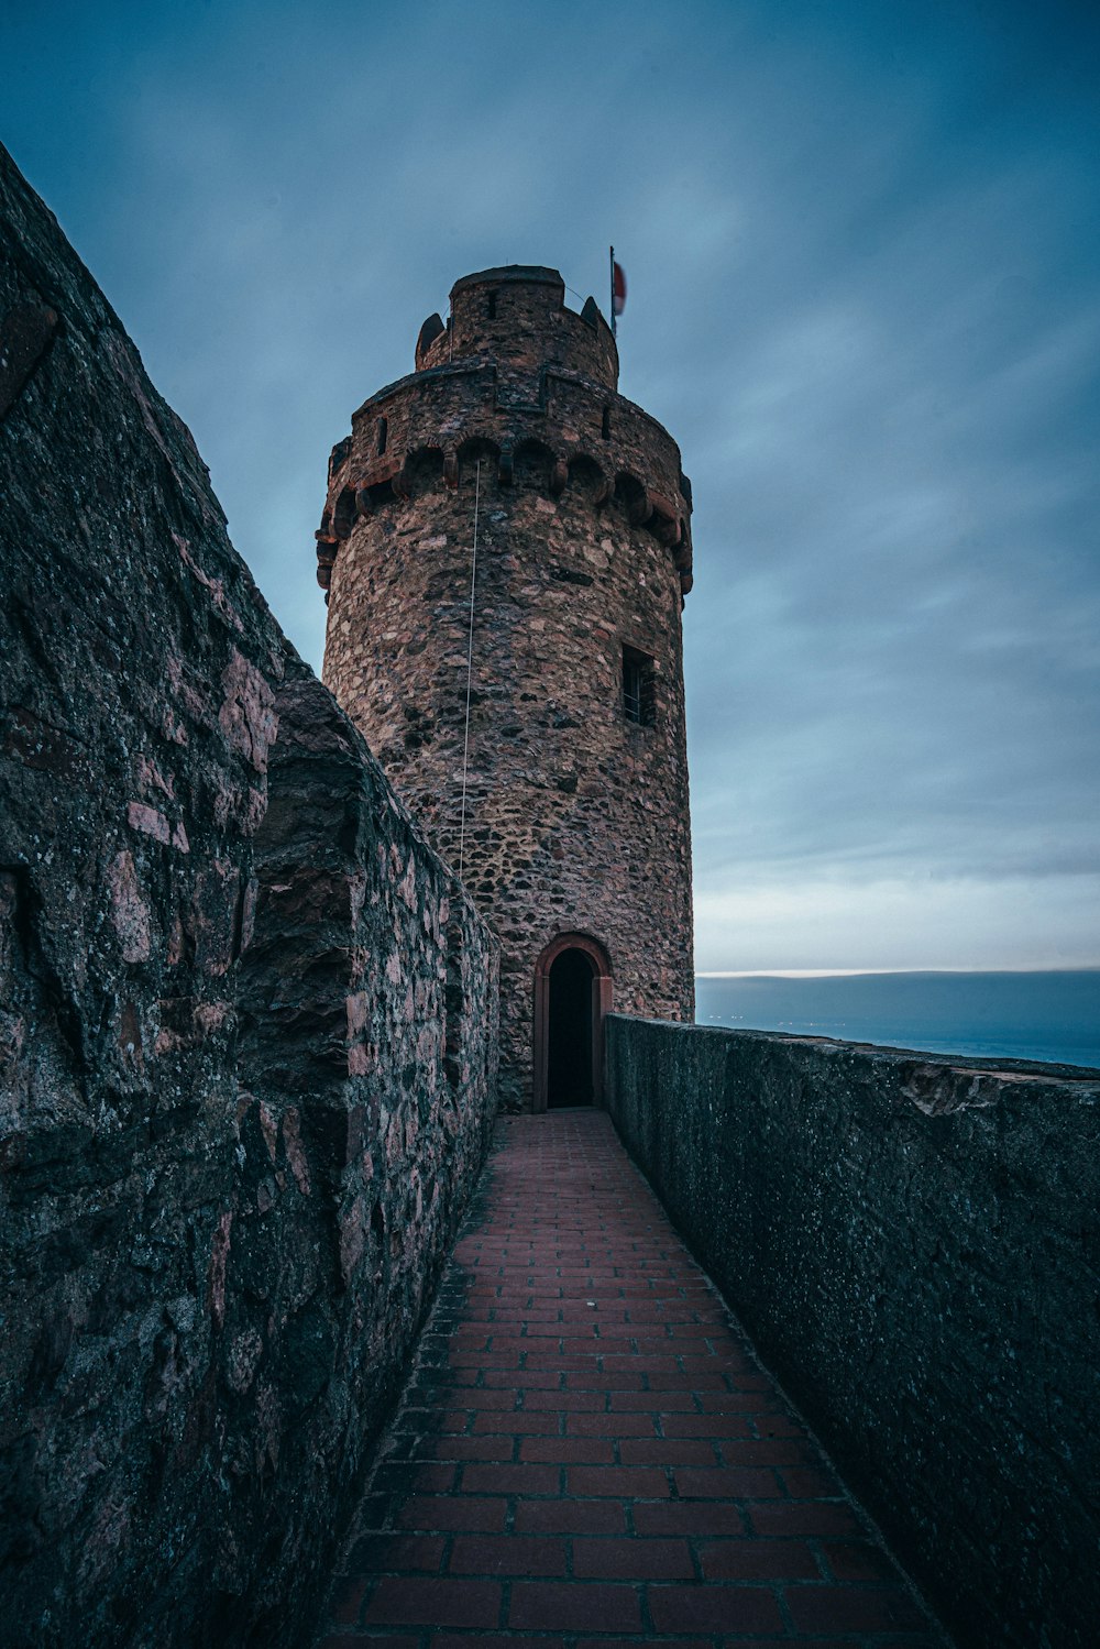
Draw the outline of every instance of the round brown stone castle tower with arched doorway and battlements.
<instances>
[{"instance_id":1,"label":"round brown stone castle tower with arched doorway and battlements","mask_svg":"<svg viewBox=\"0 0 1100 1649\"><path fill-rule=\"evenodd\" d=\"M612 1004L694 1012L691 486L564 298L554 269L458 280L333 449L317 534L325 683L500 938L510 1110L599 1098Z\"/></svg>"}]
</instances>

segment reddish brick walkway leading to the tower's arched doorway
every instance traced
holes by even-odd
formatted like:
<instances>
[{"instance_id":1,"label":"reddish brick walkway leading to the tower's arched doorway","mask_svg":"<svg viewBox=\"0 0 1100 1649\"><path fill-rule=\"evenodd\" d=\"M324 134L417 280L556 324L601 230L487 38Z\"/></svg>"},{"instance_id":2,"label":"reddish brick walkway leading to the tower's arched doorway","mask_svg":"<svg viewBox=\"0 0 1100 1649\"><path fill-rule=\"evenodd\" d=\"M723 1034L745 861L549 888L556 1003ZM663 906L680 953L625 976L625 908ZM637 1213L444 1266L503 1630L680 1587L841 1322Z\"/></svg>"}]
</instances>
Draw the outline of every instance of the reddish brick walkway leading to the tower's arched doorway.
<instances>
[{"instance_id":1,"label":"reddish brick walkway leading to the tower's arched doorway","mask_svg":"<svg viewBox=\"0 0 1100 1649\"><path fill-rule=\"evenodd\" d=\"M942 1649L605 1115L500 1123L323 1649Z\"/></svg>"}]
</instances>

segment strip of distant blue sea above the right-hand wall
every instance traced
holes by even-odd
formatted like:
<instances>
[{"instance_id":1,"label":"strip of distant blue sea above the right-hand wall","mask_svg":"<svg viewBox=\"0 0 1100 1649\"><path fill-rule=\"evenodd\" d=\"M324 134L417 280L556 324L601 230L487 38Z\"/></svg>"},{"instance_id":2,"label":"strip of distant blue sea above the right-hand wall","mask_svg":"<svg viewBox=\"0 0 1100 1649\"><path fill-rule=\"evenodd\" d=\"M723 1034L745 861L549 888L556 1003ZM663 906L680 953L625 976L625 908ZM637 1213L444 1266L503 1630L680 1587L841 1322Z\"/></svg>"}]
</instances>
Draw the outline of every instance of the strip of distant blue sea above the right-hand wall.
<instances>
[{"instance_id":1,"label":"strip of distant blue sea above the right-hand wall","mask_svg":"<svg viewBox=\"0 0 1100 1649\"><path fill-rule=\"evenodd\" d=\"M1100 1067L1100 968L698 978L696 1022Z\"/></svg>"}]
</instances>

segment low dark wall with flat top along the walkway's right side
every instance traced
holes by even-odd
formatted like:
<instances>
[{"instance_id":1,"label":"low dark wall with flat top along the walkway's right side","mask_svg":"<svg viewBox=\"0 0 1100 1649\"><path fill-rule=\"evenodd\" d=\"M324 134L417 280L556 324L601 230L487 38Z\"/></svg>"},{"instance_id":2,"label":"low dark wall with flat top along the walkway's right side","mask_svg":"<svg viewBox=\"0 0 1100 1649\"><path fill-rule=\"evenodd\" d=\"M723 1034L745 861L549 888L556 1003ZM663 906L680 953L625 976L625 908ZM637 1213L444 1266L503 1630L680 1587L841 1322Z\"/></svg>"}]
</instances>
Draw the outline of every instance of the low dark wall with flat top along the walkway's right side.
<instances>
[{"instance_id":1,"label":"low dark wall with flat top along the walkway's right side","mask_svg":"<svg viewBox=\"0 0 1100 1649\"><path fill-rule=\"evenodd\" d=\"M612 1017L609 1108L960 1642L1087 1649L1100 1073Z\"/></svg>"}]
</instances>

